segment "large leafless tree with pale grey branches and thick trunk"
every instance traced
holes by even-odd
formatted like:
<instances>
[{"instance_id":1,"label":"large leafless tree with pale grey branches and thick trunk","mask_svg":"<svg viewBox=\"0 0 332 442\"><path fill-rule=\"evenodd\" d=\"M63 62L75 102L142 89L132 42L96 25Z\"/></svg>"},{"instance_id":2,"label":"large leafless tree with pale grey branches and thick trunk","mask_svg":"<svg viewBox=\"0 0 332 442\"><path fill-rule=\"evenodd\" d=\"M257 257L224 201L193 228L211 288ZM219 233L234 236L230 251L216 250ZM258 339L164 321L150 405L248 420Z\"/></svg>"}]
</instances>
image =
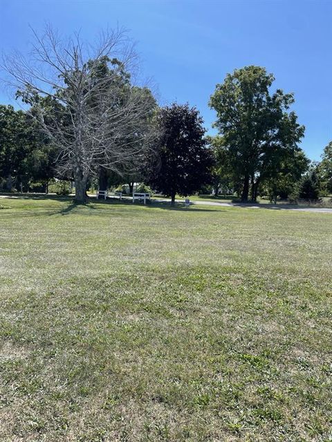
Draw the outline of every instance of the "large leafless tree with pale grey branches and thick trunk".
<instances>
[{"instance_id":1,"label":"large leafless tree with pale grey branches and thick trunk","mask_svg":"<svg viewBox=\"0 0 332 442\"><path fill-rule=\"evenodd\" d=\"M57 146L59 172L73 175L75 200L84 202L91 175L124 173L151 147L151 95L130 84L136 54L123 30L103 33L95 46L50 27L33 35L28 59L3 57L3 68Z\"/></svg>"}]
</instances>

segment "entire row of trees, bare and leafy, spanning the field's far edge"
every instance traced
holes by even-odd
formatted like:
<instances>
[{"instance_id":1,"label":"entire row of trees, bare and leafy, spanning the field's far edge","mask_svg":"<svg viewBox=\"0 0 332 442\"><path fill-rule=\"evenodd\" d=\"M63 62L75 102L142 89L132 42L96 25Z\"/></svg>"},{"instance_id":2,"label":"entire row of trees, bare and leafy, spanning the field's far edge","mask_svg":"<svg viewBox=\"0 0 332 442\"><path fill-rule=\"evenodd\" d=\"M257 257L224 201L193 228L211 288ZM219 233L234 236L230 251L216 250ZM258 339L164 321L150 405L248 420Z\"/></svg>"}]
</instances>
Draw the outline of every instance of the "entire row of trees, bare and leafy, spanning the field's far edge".
<instances>
[{"instance_id":1,"label":"entire row of trees, bare and leafy, spanning the field's far edge","mask_svg":"<svg viewBox=\"0 0 332 442\"><path fill-rule=\"evenodd\" d=\"M332 142L321 162L308 160L293 94L273 92L265 68L236 69L216 85L209 104L218 133L210 136L196 108L160 107L149 87L135 84L135 64L121 30L90 46L48 27L35 33L28 57L5 57L25 110L0 105L0 189L47 191L52 180L68 180L85 202L91 180L101 190L145 182L172 204L202 189L227 189L242 202L332 193Z\"/></svg>"}]
</instances>

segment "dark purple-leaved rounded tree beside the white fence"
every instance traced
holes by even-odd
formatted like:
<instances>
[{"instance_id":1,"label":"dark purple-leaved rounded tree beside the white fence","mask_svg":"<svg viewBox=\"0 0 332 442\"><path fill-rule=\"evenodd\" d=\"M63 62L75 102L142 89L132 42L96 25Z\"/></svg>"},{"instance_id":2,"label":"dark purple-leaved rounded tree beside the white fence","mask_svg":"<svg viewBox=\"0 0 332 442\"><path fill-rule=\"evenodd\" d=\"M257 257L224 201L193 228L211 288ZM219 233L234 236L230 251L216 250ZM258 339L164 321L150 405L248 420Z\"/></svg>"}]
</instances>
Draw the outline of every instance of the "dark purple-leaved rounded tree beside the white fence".
<instances>
[{"instance_id":1,"label":"dark purple-leaved rounded tree beside the white fence","mask_svg":"<svg viewBox=\"0 0 332 442\"><path fill-rule=\"evenodd\" d=\"M211 182L213 155L204 138L203 119L188 104L160 108L156 154L149 157L147 183L164 195L187 196Z\"/></svg>"}]
</instances>

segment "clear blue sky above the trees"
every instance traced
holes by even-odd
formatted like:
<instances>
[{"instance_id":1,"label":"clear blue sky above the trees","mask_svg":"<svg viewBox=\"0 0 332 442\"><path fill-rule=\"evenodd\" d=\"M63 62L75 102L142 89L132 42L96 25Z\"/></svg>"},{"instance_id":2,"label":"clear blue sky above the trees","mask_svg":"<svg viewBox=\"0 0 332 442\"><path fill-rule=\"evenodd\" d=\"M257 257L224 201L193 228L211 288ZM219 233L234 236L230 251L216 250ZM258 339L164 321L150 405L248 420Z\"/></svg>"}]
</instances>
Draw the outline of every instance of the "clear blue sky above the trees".
<instances>
[{"instance_id":1,"label":"clear blue sky above the trees","mask_svg":"<svg viewBox=\"0 0 332 442\"><path fill-rule=\"evenodd\" d=\"M50 22L91 40L101 28L127 28L160 103L197 106L209 129L216 83L234 68L264 66L275 87L295 93L308 156L319 160L332 140L332 1L0 0L0 8L4 52L28 49L29 25L42 30ZM9 102L3 90L0 102Z\"/></svg>"}]
</instances>

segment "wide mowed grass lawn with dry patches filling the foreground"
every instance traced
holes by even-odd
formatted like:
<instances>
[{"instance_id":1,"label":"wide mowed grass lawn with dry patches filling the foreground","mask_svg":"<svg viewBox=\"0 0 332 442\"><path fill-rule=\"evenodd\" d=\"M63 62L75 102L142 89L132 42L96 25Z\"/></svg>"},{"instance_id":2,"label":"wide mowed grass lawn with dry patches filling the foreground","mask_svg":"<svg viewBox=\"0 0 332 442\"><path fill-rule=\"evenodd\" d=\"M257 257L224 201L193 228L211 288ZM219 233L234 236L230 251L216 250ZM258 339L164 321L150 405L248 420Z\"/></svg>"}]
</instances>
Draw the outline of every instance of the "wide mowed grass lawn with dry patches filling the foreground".
<instances>
[{"instance_id":1,"label":"wide mowed grass lawn with dry patches filling the foreground","mask_svg":"<svg viewBox=\"0 0 332 442\"><path fill-rule=\"evenodd\" d=\"M332 440L332 215L0 207L1 441Z\"/></svg>"}]
</instances>

